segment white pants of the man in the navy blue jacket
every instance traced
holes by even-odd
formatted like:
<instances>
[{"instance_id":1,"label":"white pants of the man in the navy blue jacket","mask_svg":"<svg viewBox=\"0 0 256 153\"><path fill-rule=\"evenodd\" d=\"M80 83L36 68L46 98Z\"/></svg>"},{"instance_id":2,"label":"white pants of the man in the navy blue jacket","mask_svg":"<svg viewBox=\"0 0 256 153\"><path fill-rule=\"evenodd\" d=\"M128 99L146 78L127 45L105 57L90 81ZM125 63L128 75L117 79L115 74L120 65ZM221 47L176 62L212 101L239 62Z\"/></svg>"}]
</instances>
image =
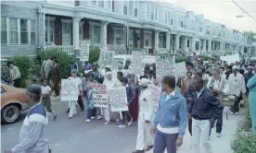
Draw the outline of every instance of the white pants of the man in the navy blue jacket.
<instances>
[{"instance_id":1,"label":"white pants of the man in the navy blue jacket","mask_svg":"<svg viewBox=\"0 0 256 153\"><path fill-rule=\"evenodd\" d=\"M192 119L192 153L212 153L209 140L210 128L209 120Z\"/></svg>"}]
</instances>

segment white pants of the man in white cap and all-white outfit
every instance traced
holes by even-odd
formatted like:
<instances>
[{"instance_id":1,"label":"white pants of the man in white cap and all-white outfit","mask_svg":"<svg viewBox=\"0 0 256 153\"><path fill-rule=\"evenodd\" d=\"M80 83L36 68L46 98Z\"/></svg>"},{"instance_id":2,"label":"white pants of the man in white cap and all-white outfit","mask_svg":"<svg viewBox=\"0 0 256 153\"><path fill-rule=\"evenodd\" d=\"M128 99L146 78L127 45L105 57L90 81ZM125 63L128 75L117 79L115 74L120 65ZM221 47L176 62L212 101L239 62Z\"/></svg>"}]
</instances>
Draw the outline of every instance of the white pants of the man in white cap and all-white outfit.
<instances>
[{"instance_id":1,"label":"white pants of the man in white cap and all-white outfit","mask_svg":"<svg viewBox=\"0 0 256 153\"><path fill-rule=\"evenodd\" d=\"M138 120L138 135L136 141L136 149L143 150L149 145L153 145L153 135L150 133L152 128L151 123L143 123L141 120Z\"/></svg>"}]
</instances>

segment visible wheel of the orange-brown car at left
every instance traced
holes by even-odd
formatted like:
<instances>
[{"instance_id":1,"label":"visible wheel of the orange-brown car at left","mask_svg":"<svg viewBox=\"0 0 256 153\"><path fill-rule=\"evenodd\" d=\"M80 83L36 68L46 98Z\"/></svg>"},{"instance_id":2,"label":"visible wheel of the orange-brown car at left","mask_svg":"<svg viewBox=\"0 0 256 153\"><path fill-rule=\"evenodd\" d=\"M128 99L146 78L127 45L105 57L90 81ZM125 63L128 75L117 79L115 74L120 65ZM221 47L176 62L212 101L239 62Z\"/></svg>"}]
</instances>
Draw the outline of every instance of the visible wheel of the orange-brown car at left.
<instances>
[{"instance_id":1,"label":"visible wheel of the orange-brown car at left","mask_svg":"<svg viewBox=\"0 0 256 153\"><path fill-rule=\"evenodd\" d=\"M8 104L1 110L1 124L13 124L19 120L19 105Z\"/></svg>"}]
</instances>

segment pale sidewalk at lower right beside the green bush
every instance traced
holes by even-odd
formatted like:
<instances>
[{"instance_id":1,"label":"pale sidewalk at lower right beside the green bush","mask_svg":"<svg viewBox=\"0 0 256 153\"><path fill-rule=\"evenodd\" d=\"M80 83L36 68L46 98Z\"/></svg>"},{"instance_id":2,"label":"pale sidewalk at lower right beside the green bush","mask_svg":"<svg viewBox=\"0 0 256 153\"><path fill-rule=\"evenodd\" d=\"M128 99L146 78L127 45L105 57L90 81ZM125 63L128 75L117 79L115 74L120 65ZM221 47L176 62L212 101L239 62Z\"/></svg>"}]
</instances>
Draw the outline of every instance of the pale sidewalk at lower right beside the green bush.
<instances>
[{"instance_id":1,"label":"pale sidewalk at lower right beside the green bush","mask_svg":"<svg viewBox=\"0 0 256 153\"><path fill-rule=\"evenodd\" d=\"M233 136L237 130L237 123L244 119L244 111L242 110L239 115L228 115L229 120L226 120L224 114L224 124L222 137L216 137L215 128L211 130L211 148L212 153L233 153L230 147L230 142L233 140ZM177 153L191 153L189 149L191 144L191 136L186 130L186 135L184 136L183 146L179 147ZM153 153L153 150L147 153ZM167 153L167 151L165 151Z\"/></svg>"}]
</instances>

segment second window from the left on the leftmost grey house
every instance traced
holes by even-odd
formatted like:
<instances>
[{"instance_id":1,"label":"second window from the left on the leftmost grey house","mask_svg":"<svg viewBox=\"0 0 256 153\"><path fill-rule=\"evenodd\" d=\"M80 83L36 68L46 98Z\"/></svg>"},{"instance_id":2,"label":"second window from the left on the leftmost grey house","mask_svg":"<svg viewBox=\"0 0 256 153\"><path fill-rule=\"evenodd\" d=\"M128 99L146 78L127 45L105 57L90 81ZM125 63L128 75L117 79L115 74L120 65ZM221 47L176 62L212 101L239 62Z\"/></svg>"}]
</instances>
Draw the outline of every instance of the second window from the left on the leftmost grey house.
<instances>
[{"instance_id":1,"label":"second window from the left on the leftmost grey house","mask_svg":"<svg viewBox=\"0 0 256 153\"><path fill-rule=\"evenodd\" d=\"M9 18L9 41L10 41L10 44L18 44L17 18Z\"/></svg>"}]
</instances>

